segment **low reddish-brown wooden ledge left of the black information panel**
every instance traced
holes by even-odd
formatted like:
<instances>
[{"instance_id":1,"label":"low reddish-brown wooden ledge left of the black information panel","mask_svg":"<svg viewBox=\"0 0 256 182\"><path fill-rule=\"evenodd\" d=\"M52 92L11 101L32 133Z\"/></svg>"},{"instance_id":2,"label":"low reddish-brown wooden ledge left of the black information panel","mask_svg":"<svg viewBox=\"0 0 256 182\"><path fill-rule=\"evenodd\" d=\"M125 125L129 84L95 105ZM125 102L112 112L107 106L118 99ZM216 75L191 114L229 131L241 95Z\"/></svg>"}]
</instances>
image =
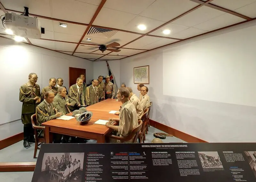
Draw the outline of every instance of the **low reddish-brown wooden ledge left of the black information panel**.
<instances>
[{"instance_id":1,"label":"low reddish-brown wooden ledge left of the black information panel","mask_svg":"<svg viewBox=\"0 0 256 182\"><path fill-rule=\"evenodd\" d=\"M0 163L0 172L34 171L36 162Z\"/></svg>"}]
</instances>

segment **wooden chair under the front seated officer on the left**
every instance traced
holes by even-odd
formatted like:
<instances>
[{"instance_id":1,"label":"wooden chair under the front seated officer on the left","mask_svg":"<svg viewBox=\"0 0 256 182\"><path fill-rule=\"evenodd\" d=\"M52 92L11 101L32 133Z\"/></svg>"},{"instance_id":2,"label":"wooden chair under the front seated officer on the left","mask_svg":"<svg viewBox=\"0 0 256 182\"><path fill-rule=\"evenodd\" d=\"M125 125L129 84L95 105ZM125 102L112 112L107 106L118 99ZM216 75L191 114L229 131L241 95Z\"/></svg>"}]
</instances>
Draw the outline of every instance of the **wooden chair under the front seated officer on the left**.
<instances>
[{"instance_id":1,"label":"wooden chair under the front seated officer on the left","mask_svg":"<svg viewBox=\"0 0 256 182\"><path fill-rule=\"evenodd\" d=\"M35 143L35 151L34 151L34 158L36 158L36 152L37 149L40 150L39 145L41 145L42 143L45 143L45 127L41 126L36 126L37 120L36 120L36 114L33 114L31 116L31 122L32 122L32 127L34 129L34 135L35 135L35 139L36 139L36 143ZM40 138L37 136L37 130L43 130L44 132L44 138Z\"/></svg>"}]
</instances>

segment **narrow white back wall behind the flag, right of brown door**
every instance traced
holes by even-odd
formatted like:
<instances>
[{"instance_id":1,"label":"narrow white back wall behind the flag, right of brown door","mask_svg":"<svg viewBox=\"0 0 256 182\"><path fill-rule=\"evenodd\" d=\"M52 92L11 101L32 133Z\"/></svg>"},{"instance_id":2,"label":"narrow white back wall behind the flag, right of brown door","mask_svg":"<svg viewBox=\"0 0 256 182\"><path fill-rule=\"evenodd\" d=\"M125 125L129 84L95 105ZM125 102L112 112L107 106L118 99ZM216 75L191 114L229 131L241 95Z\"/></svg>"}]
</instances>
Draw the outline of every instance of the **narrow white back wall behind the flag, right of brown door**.
<instances>
[{"instance_id":1,"label":"narrow white back wall behind the flag, right of brown door","mask_svg":"<svg viewBox=\"0 0 256 182\"><path fill-rule=\"evenodd\" d=\"M108 61L108 65L113 72L113 75L116 80L117 87L121 87L120 82L120 61L113 60ZM106 61L95 61L93 62L93 78L98 79L98 76L106 76L108 75L108 67Z\"/></svg>"}]
</instances>

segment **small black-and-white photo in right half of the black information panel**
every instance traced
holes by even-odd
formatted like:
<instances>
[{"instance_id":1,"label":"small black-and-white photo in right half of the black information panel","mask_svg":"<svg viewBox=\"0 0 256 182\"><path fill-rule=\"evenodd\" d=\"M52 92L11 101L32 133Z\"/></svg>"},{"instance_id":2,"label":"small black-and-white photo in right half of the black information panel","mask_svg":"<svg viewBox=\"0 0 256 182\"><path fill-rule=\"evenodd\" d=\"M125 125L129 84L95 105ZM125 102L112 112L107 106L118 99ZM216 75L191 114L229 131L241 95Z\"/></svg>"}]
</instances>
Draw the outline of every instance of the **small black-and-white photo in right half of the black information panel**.
<instances>
[{"instance_id":1,"label":"small black-and-white photo in right half of the black information panel","mask_svg":"<svg viewBox=\"0 0 256 182\"><path fill-rule=\"evenodd\" d=\"M203 168L223 168L217 151L198 152Z\"/></svg>"}]
</instances>

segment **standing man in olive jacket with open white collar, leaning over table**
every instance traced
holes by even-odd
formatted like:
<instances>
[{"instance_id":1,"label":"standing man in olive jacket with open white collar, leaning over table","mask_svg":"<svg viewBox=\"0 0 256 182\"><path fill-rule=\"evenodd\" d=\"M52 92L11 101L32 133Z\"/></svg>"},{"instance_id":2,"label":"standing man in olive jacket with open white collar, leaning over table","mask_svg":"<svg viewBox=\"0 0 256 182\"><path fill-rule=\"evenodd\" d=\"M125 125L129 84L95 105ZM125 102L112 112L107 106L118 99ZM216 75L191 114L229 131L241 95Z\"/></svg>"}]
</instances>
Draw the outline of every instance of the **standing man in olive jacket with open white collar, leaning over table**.
<instances>
[{"instance_id":1,"label":"standing man in olive jacket with open white collar, leaning over table","mask_svg":"<svg viewBox=\"0 0 256 182\"><path fill-rule=\"evenodd\" d=\"M76 84L69 88L69 98L76 101L76 107L85 105L84 103L84 91L83 91L83 80L82 78L76 79Z\"/></svg>"}]
</instances>

